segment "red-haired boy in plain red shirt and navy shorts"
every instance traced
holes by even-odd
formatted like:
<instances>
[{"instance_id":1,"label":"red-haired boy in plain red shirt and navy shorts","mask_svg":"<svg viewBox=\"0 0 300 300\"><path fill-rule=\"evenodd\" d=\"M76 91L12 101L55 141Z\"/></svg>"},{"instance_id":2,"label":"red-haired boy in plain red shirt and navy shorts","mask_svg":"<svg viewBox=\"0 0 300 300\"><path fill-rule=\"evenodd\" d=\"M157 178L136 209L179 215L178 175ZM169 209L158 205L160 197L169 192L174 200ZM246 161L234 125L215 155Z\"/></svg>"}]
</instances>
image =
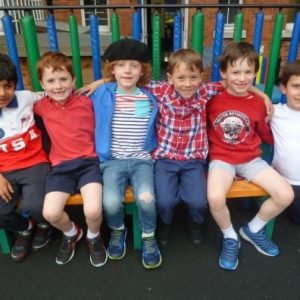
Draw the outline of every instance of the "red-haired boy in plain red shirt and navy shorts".
<instances>
[{"instance_id":1,"label":"red-haired boy in plain red shirt and navy shorts","mask_svg":"<svg viewBox=\"0 0 300 300\"><path fill-rule=\"evenodd\" d=\"M101 267L107 261L107 253L100 236L102 178L95 151L92 103L87 97L74 95L72 61L64 54L45 53L37 64L37 73L47 96L36 103L34 111L43 119L49 134L52 163L43 215L63 233L56 263L63 265L73 258L75 245L83 235L64 211L70 194L80 190L90 262Z\"/></svg>"}]
</instances>

